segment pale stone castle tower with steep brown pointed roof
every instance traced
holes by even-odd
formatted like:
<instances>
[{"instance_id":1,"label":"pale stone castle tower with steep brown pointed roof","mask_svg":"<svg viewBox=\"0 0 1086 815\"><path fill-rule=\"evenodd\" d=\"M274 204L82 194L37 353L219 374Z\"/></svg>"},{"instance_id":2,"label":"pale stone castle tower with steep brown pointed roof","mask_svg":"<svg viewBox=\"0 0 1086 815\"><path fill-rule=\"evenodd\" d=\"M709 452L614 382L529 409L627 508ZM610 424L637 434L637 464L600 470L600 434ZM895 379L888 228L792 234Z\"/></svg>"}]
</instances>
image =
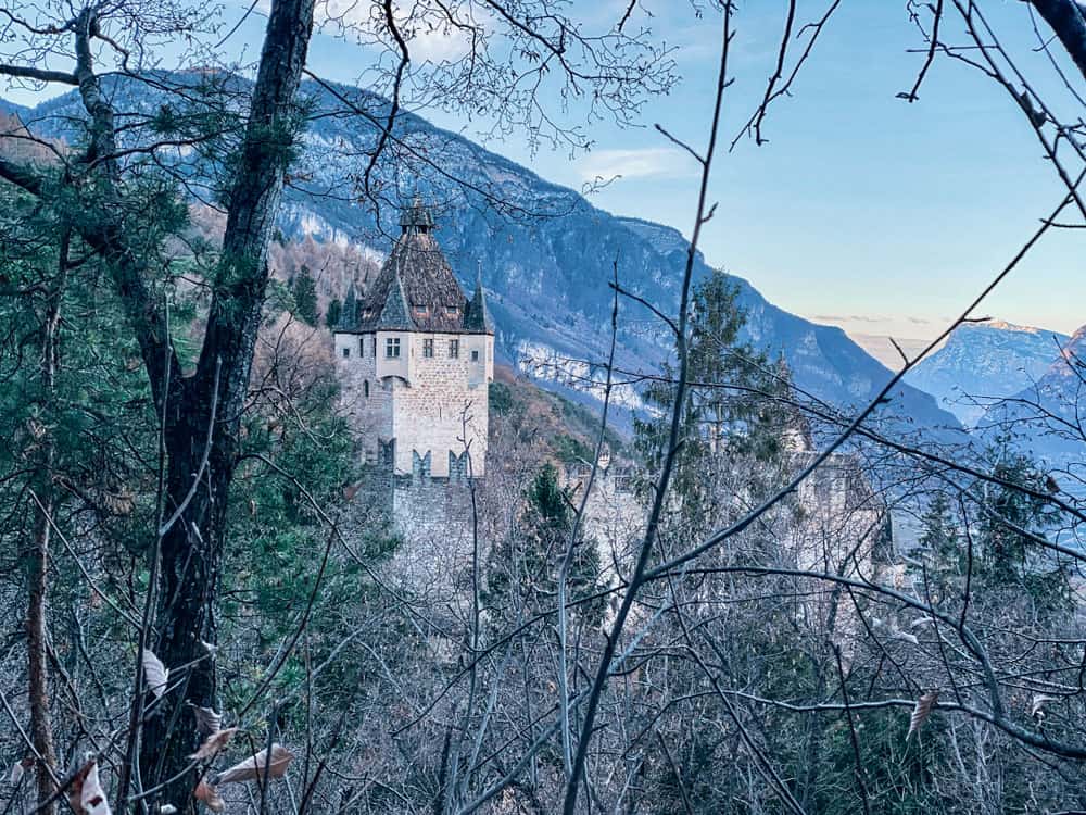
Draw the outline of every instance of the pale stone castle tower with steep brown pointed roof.
<instances>
[{"instance_id":1,"label":"pale stone castle tower with steep brown pointed roof","mask_svg":"<svg viewBox=\"0 0 1086 815\"><path fill-rule=\"evenodd\" d=\"M485 476L494 328L481 279L468 300L430 210L416 199L400 225L380 274L348 292L333 334L348 410L404 525L406 507Z\"/></svg>"}]
</instances>

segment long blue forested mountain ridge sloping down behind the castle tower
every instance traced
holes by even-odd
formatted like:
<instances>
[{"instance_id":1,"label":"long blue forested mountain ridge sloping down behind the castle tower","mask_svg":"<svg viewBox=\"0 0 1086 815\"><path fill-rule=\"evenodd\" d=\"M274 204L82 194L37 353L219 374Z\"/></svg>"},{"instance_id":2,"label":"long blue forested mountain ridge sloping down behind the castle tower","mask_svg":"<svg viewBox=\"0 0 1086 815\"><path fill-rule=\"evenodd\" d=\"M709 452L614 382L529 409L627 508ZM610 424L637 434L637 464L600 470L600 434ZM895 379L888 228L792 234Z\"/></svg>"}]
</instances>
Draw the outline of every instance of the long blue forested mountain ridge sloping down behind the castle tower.
<instances>
[{"instance_id":1,"label":"long blue forested mountain ridge sloping down behind the castle tower","mask_svg":"<svg viewBox=\"0 0 1086 815\"><path fill-rule=\"evenodd\" d=\"M106 92L124 110L143 112L148 122L181 121L188 112L160 88L175 84L191 91L195 85L212 85L212 92L244 98L245 80L229 75L213 79L162 74L152 87L111 78ZM374 196L364 198L367 150L376 142L375 123L387 114L388 102L357 89L312 82L303 92L311 110L321 115L313 116L292 168L280 225L286 235L354 242L381 255L399 231L396 204L420 192L434 204L439 240L460 281L470 289L477 268L482 274L500 355L581 401L597 399L605 378L602 363L609 344L616 272L623 289L665 313L675 311L687 247L677 229L598 210L573 190L411 114L397 120L386 156L394 161L375 168L369 178ZM193 92L185 96L199 98ZM192 105L199 108L199 102ZM25 120L42 135L75 143L80 135L72 130L72 122L81 115L73 92L42 103ZM129 126L128 138L138 138L139 128ZM214 177L210 171L219 168L222 151L216 154L212 148L168 148L157 158L189 189L200 190ZM359 199L366 205L359 205ZM708 272L699 254L695 274ZM889 379L889 371L841 329L790 314L748 281L735 281L748 314L747 338L773 356L783 354L803 390L847 409L869 401ZM634 375L658 371L673 349L666 326L632 300L623 299L620 308L618 367ZM632 387L621 389L617 399L631 410L640 405ZM896 388L882 410L907 425L959 428L932 397L908 385Z\"/></svg>"}]
</instances>

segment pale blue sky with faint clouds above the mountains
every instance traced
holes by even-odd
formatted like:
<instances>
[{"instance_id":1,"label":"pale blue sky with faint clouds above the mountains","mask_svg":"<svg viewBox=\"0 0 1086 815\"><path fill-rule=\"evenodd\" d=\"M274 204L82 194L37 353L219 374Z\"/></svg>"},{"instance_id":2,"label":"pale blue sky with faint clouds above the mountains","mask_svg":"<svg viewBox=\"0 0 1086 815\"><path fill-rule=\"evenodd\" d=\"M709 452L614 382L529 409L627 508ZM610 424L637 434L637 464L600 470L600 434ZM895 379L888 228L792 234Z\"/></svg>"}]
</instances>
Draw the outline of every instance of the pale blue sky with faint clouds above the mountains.
<instances>
[{"instance_id":1,"label":"pale blue sky with faint clouds above the mountains","mask_svg":"<svg viewBox=\"0 0 1086 815\"><path fill-rule=\"evenodd\" d=\"M765 126L769 143L745 139L727 152L765 90L786 8L784 0L741 4L724 150L710 188L719 209L702 248L710 263L746 277L784 309L854 334L923 338L1002 267L1061 189L1021 111L976 71L936 60L919 102L896 98L911 87L923 59L908 52L923 42L905 5L843 2L794 93L772 109ZM572 15L598 30L623 7L624 0L578 0ZM821 0L801 0L800 17L810 20L823 8ZM994 2L985 10L1022 55L1031 79L1059 98L1052 72L1031 52L1036 41L1025 4ZM241 13L241 5L227 4L223 20L232 25ZM255 55L263 23L258 15L247 21L231 40L235 54ZM593 149L572 156L532 153L522 134L488 147L574 188L620 176L593 193L595 205L689 235L697 167L652 125L704 145L719 17L707 10L696 18L689 0L642 0L632 24L677 47L683 77L670 95L646 102L636 126L594 123L588 130ZM963 41L960 27L948 33ZM431 38L426 47L440 53L445 45ZM310 64L329 79L352 82L366 59L359 46L318 35ZM558 111L557 99L548 101ZM465 123L453 112L418 112L468 137L487 124ZM574 105L559 115L576 122L579 113ZM1050 231L983 313L1062 331L1086 323L1083 235Z\"/></svg>"}]
</instances>

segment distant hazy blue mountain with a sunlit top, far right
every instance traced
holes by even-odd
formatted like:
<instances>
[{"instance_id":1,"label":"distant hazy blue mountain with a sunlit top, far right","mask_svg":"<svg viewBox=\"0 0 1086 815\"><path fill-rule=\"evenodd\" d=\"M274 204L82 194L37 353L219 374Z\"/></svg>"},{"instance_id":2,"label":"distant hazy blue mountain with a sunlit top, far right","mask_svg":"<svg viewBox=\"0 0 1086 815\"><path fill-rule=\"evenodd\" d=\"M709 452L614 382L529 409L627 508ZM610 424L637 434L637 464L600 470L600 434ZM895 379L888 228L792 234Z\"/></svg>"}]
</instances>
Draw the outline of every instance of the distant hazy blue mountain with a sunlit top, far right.
<instances>
[{"instance_id":1,"label":"distant hazy blue mountain with a sunlit top, far right","mask_svg":"<svg viewBox=\"0 0 1086 815\"><path fill-rule=\"evenodd\" d=\"M1068 336L1000 321L965 323L921 360L906 381L972 426L994 399L1013 396L1045 375Z\"/></svg>"}]
</instances>

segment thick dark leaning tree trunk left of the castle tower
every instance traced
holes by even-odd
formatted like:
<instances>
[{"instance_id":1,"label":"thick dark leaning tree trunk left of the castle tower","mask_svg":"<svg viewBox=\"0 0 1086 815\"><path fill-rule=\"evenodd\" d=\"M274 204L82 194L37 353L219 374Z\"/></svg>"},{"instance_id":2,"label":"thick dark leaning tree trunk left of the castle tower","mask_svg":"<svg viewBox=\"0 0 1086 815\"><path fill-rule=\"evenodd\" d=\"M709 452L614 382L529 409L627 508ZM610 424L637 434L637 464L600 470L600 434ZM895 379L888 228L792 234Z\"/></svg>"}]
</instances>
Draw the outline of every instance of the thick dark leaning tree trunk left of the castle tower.
<instances>
[{"instance_id":1,"label":"thick dark leaning tree trunk left of the castle tower","mask_svg":"<svg viewBox=\"0 0 1086 815\"><path fill-rule=\"evenodd\" d=\"M167 400L165 509L167 517L179 514L161 540L154 650L166 666L191 667L144 726L140 765L144 788L180 776L162 801L182 810L191 806L197 781L184 773L187 756L199 741L186 702L218 707L214 659L201 640L216 641L228 494L268 281L268 243L303 122L295 97L313 7L314 0L273 3L200 360L191 377L161 389Z\"/></svg>"}]
</instances>

